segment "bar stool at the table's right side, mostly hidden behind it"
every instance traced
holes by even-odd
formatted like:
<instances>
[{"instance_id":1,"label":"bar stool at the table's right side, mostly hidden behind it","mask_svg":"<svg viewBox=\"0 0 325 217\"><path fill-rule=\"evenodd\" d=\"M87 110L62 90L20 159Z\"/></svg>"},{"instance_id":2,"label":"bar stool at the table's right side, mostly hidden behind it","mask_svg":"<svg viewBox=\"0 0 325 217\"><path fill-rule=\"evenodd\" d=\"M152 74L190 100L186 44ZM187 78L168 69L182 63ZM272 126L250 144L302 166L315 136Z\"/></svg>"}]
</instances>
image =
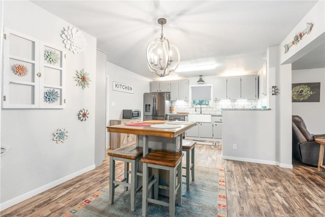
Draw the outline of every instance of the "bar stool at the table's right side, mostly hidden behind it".
<instances>
[{"instance_id":1,"label":"bar stool at the table's right side, mostly hidden behind it","mask_svg":"<svg viewBox=\"0 0 325 217\"><path fill-rule=\"evenodd\" d=\"M196 141L183 140L182 151L186 151L186 174L183 174L183 177L186 177L186 191L189 190L189 171L191 171L192 181L194 181L194 151Z\"/></svg>"}]
</instances>

